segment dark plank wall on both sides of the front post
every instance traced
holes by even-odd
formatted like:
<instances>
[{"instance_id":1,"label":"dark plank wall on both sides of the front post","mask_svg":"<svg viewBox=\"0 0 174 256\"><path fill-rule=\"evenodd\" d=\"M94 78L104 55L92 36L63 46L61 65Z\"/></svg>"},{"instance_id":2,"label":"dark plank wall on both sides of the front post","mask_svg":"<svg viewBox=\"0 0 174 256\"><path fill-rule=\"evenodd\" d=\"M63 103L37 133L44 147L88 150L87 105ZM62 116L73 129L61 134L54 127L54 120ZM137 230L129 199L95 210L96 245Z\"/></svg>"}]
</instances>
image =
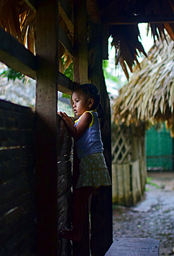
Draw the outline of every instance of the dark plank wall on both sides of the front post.
<instances>
[{"instance_id":1,"label":"dark plank wall on both sides of the front post","mask_svg":"<svg viewBox=\"0 0 174 256\"><path fill-rule=\"evenodd\" d=\"M36 255L35 112L0 100L0 255ZM72 140L58 117L58 228L68 226ZM58 255L70 255L70 242ZM64 252L64 253L62 253Z\"/></svg>"}]
</instances>

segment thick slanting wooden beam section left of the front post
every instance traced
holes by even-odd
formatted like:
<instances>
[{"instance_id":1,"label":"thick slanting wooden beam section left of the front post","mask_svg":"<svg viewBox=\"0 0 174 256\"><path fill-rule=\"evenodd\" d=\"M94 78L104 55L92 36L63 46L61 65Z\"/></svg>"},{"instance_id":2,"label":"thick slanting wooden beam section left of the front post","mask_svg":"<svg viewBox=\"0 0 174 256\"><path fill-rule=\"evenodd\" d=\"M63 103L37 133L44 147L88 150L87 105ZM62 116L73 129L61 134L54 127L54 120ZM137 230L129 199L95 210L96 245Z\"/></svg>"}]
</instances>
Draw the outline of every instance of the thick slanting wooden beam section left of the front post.
<instances>
[{"instance_id":1,"label":"thick slanting wooden beam section left of the front post","mask_svg":"<svg viewBox=\"0 0 174 256\"><path fill-rule=\"evenodd\" d=\"M2 28L0 28L0 61L35 79L35 55Z\"/></svg>"}]
</instances>

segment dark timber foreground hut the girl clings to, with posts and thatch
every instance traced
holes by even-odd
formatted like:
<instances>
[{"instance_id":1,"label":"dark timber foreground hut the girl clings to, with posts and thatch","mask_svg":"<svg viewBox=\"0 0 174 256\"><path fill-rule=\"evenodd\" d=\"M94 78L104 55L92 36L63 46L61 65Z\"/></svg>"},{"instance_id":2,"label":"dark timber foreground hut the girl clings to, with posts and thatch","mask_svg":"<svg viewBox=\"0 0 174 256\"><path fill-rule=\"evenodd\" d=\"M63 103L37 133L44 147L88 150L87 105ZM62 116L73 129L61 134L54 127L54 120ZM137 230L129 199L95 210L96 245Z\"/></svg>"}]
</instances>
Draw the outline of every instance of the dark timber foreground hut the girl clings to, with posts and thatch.
<instances>
[{"instance_id":1,"label":"dark timber foreground hut the girl clings to, with posts and thatch","mask_svg":"<svg viewBox=\"0 0 174 256\"><path fill-rule=\"evenodd\" d=\"M70 94L78 84L97 84L111 174L110 103L102 71L108 37L113 36L116 60L126 73L125 62L132 69L138 52L144 53L139 22L150 23L154 37L166 28L174 39L173 6L171 0L0 0L0 60L37 80L34 113L0 101L2 255L70 254L70 243L58 240L58 230L70 225L72 175L71 138L57 116L57 91ZM70 62L73 82L63 73ZM90 249L104 255L112 244L111 188L93 193L90 217L91 242L87 217L74 255L90 255Z\"/></svg>"}]
</instances>

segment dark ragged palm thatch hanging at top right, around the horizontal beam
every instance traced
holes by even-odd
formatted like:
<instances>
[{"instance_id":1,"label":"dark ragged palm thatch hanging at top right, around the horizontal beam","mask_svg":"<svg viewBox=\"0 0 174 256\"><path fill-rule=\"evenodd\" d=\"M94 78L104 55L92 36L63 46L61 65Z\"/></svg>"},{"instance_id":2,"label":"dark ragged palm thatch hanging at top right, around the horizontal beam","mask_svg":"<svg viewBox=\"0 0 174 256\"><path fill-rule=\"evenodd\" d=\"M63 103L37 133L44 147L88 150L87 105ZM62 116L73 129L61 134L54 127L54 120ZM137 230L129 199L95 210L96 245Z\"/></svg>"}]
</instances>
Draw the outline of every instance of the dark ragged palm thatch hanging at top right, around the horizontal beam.
<instances>
[{"instance_id":1,"label":"dark ragged palm thatch hanging at top right, around the horizontal beam","mask_svg":"<svg viewBox=\"0 0 174 256\"><path fill-rule=\"evenodd\" d=\"M110 6L104 10L104 15L119 15L123 17L129 17L130 15L136 16L148 16L148 17L167 17L174 13L174 1L173 0L124 0L120 3L119 0L115 0L110 3ZM157 40L165 38L164 28L168 35L174 40L174 24L173 23L151 23L148 24L148 31L151 27L151 33L155 42ZM148 33L147 31L147 33ZM137 61L137 55L144 52L144 48L139 42L139 30L137 24L134 25L116 25L110 26L110 35L113 36L112 45L115 46L115 64L120 62L123 71L129 79L128 68L132 72L133 66L139 62ZM126 64L125 64L126 62Z\"/></svg>"}]
</instances>

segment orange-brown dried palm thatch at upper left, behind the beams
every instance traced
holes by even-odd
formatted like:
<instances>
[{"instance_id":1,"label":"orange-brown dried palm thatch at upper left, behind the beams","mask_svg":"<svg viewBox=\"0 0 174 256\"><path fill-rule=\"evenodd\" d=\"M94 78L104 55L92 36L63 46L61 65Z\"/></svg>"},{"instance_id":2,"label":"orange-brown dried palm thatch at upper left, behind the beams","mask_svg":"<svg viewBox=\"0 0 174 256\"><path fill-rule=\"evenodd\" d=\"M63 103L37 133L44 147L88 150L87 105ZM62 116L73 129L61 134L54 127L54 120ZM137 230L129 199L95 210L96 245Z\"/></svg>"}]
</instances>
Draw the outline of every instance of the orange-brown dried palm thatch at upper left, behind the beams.
<instances>
[{"instance_id":1,"label":"orange-brown dried palm thatch at upper left, behind the beams","mask_svg":"<svg viewBox=\"0 0 174 256\"><path fill-rule=\"evenodd\" d=\"M28 6L27 2L27 0L0 0L0 26L35 54L36 12ZM72 42L73 35L61 15L59 16L59 26L63 28ZM62 57L64 57L64 65ZM71 62L72 56L59 42L59 71L64 71Z\"/></svg>"}]
</instances>

